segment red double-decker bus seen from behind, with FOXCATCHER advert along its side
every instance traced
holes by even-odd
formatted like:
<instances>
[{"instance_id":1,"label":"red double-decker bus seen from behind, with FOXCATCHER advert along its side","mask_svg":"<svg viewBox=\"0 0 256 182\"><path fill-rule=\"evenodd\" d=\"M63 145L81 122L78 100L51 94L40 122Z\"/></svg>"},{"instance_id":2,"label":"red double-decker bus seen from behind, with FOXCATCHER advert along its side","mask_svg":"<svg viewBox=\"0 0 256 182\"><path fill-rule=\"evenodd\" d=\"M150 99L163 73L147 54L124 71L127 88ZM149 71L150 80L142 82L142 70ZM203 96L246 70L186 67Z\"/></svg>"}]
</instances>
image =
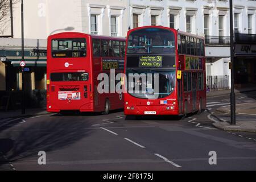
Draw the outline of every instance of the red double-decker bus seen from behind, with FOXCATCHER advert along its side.
<instances>
[{"instance_id":1,"label":"red double-decker bus seen from behind, with FOXCATCHER advert along its side","mask_svg":"<svg viewBox=\"0 0 256 182\"><path fill-rule=\"evenodd\" d=\"M118 93L98 93L100 73L123 73L125 38L63 32L48 37L47 111L123 108Z\"/></svg>"}]
</instances>

